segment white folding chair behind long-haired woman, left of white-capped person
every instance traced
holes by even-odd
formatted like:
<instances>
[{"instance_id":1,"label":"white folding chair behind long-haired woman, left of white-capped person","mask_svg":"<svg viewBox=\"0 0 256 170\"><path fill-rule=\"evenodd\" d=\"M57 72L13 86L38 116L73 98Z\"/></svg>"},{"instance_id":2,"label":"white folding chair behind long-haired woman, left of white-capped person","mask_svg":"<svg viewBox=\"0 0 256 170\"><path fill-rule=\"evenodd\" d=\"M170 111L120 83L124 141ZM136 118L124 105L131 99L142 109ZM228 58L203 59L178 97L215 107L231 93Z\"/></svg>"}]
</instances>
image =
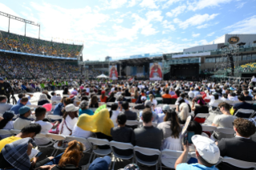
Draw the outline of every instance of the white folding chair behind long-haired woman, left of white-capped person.
<instances>
[{"instance_id":1,"label":"white folding chair behind long-haired woman, left of white-capped person","mask_svg":"<svg viewBox=\"0 0 256 170\"><path fill-rule=\"evenodd\" d=\"M167 168L174 169L175 162L181 156L182 153L183 153L182 151L173 151L169 149L164 149L161 152L161 163L164 164ZM168 157L165 158L164 156L168 156ZM186 162L189 161L190 157L191 157L190 155L187 156ZM161 169L162 169L162 166L161 166Z\"/></svg>"}]
</instances>

